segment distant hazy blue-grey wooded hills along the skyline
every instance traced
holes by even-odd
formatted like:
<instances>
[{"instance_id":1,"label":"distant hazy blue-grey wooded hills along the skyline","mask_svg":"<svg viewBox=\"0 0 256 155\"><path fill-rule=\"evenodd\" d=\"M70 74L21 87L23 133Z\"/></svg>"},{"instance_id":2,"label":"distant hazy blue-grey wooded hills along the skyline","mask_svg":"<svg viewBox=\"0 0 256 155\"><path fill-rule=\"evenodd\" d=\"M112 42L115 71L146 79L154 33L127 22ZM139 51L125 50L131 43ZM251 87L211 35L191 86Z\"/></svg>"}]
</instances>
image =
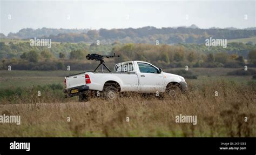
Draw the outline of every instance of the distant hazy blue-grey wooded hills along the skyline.
<instances>
[{"instance_id":1,"label":"distant hazy blue-grey wooded hills along the skyline","mask_svg":"<svg viewBox=\"0 0 256 155\"><path fill-rule=\"evenodd\" d=\"M53 42L87 42L93 43L96 40L102 43L113 43L119 41L121 43L150 43L155 44L159 41L161 44L176 44L176 43L205 43L208 37L218 39L238 39L255 37L256 30L254 29L199 29L199 28L154 28L146 26L143 28L133 29L22 29L17 33L9 33L8 36L0 34L1 38L9 39L30 39L30 38L49 38Z\"/></svg>"}]
</instances>

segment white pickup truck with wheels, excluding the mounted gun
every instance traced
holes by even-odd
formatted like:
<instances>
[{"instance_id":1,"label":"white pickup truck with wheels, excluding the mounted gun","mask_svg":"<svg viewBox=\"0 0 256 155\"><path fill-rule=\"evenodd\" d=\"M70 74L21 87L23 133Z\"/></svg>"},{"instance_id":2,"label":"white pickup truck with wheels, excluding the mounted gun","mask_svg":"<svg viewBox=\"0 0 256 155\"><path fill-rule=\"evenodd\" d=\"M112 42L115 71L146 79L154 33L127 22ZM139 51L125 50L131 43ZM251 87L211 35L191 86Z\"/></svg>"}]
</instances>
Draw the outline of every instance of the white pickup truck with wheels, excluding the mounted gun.
<instances>
[{"instance_id":1,"label":"white pickup truck with wheels, excluding the mounted gun","mask_svg":"<svg viewBox=\"0 0 256 155\"><path fill-rule=\"evenodd\" d=\"M108 100L119 97L121 92L165 93L176 96L187 90L181 76L165 73L156 66L142 61L116 64L114 72L83 72L65 77L66 97L79 96L83 101L89 94Z\"/></svg>"}]
</instances>

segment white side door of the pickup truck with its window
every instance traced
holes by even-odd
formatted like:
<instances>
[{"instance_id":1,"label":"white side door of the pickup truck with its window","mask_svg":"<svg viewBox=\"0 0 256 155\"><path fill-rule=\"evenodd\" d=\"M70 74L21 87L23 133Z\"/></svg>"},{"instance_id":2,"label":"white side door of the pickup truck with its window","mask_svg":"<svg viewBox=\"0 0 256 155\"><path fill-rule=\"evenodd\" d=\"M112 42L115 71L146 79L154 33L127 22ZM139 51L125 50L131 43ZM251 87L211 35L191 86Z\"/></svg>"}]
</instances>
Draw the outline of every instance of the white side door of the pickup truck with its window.
<instances>
[{"instance_id":1,"label":"white side door of the pickup truck with its window","mask_svg":"<svg viewBox=\"0 0 256 155\"><path fill-rule=\"evenodd\" d=\"M164 89L163 73L147 63L137 63L139 66L139 91L141 92L162 92Z\"/></svg>"}]
</instances>

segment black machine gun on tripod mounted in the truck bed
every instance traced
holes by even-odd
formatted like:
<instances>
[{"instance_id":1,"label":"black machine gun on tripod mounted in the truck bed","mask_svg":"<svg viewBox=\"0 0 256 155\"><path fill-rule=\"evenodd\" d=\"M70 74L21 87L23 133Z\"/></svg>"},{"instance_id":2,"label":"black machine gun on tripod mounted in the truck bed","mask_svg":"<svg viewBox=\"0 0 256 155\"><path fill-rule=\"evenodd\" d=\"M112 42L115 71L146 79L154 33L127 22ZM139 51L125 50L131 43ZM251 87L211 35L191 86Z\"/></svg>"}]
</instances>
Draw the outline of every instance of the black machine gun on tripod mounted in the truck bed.
<instances>
[{"instance_id":1,"label":"black machine gun on tripod mounted in the truck bed","mask_svg":"<svg viewBox=\"0 0 256 155\"><path fill-rule=\"evenodd\" d=\"M119 57L119 56L116 56L115 53L114 53L113 56L102 56L102 55L98 55L98 54L94 53L94 54L88 54L88 55L86 56L86 59L88 59L88 60L100 61L99 65L98 65L97 68L94 70L94 72L99 68L100 65L102 65L102 72L103 72L103 67L104 67L104 66L105 66L105 68L106 68L109 72L111 72L110 69L107 68L107 66L105 65L104 58L113 58L113 57Z\"/></svg>"}]
</instances>

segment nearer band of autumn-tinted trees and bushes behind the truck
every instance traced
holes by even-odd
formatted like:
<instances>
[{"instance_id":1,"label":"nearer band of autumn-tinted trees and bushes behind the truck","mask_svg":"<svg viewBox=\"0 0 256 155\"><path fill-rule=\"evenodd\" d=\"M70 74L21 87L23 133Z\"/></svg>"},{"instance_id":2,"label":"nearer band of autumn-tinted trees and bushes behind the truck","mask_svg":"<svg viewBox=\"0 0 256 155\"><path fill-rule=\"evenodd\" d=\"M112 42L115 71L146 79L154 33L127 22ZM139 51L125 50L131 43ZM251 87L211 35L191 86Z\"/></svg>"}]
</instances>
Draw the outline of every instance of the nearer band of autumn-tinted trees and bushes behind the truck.
<instances>
[{"instance_id":1,"label":"nearer band of autumn-tinted trees and bushes behind the truck","mask_svg":"<svg viewBox=\"0 0 256 155\"><path fill-rule=\"evenodd\" d=\"M24 44L24 43L21 43ZM0 44L1 45L1 44ZM15 44L14 44L15 45ZM10 48L13 44L2 45L3 48ZM58 44L60 45L60 44ZM63 44L64 46L72 44ZM56 55L51 50L35 50L35 47L25 49L19 57L9 59L2 58L0 69L7 69L8 65L18 70L63 70L66 66L72 65L73 70L92 70L97 65L97 62L87 60L85 56L88 53L98 53L101 55L116 53L120 55L118 58L106 59L110 68L115 63L125 62L129 60L143 60L153 63L161 68L183 68L185 66L201 67L201 68L241 68L244 65L256 66L256 47L255 45L245 45L240 49L239 44L231 44L230 49L238 52L221 51L218 47L205 49L204 46L194 44L187 46L186 44L178 45L152 45L152 44L114 44L106 52L105 46L99 45L103 51L95 52L92 49L96 48L94 44L83 46L75 46L70 48L70 52L65 53L59 51ZM97 46L97 45L96 45ZM73 45L71 47L74 47ZM85 48L86 47L86 48ZM47 49L47 48L46 48ZM91 49L91 51L90 51ZM223 49L223 48L221 48ZM248 50L247 56L241 55L242 52ZM241 51L241 53L240 53Z\"/></svg>"}]
</instances>

